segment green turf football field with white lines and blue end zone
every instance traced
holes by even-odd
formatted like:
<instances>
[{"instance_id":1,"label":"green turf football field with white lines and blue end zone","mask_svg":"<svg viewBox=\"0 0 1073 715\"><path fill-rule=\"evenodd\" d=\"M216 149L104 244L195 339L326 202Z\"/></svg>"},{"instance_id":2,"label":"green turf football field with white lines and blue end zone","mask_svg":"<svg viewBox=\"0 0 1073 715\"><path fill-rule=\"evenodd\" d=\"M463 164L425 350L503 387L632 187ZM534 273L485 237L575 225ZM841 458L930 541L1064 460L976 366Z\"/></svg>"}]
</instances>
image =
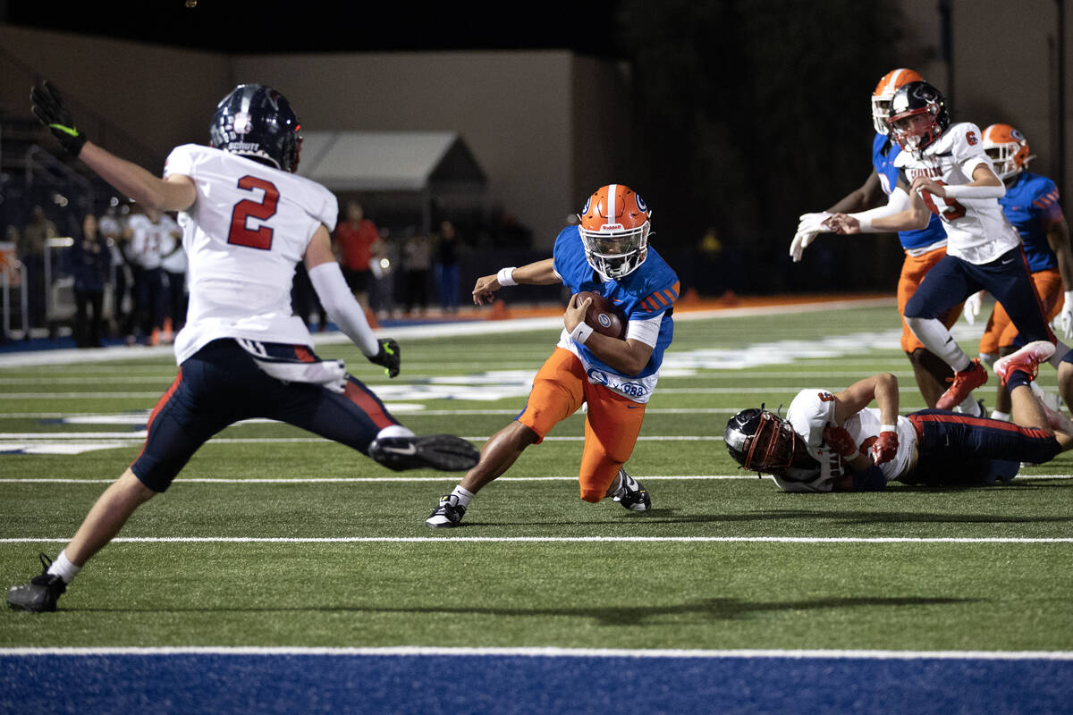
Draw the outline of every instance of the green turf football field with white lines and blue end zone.
<instances>
[{"instance_id":1,"label":"green turf football field with white lines and blue end zone","mask_svg":"<svg viewBox=\"0 0 1073 715\"><path fill-rule=\"evenodd\" d=\"M582 415L444 531L424 518L456 476L250 420L134 516L59 612L0 614L0 712L1073 712L1073 457L1005 487L783 494L736 468L726 419L879 371L903 413L922 408L893 300L675 318L629 464L650 513L577 498ZM955 328L970 354L981 323ZM559 325L383 331L402 344L396 381L338 334L318 352L415 431L480 445ZM0 355L8 584L137 455L174 373L165 349ZM1054 370L1039 382L1053 393Z\"/></svg>"}]
</instances>

